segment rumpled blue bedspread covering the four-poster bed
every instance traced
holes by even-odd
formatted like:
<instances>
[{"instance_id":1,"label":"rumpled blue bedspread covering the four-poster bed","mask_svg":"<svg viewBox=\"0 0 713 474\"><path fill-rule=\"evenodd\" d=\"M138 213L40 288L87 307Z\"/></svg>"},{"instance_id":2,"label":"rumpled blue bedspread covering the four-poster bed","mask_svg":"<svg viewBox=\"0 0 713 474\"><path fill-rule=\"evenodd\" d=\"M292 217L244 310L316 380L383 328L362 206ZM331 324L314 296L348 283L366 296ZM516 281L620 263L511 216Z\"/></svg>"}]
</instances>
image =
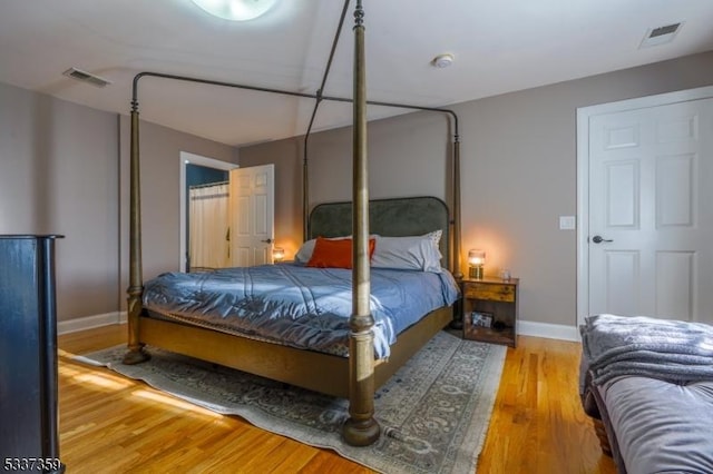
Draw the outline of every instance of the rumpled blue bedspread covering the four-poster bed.
<instances>
[{"instance_id":1,"label":"rumpled blue bedspread covering the four-poster bed","mask_svg":"<svg viewBox=\"0 0 713 474\"><path fill-rule=\"evenodd\" d=\"M145 284L144 307L169 317L257 338L348 355L352 273L263 265L208 273L167 273ZM429 312L451 305L448 271L371 269L374 355L389 356L397 335Z\"/></svg>"}]
</instances>

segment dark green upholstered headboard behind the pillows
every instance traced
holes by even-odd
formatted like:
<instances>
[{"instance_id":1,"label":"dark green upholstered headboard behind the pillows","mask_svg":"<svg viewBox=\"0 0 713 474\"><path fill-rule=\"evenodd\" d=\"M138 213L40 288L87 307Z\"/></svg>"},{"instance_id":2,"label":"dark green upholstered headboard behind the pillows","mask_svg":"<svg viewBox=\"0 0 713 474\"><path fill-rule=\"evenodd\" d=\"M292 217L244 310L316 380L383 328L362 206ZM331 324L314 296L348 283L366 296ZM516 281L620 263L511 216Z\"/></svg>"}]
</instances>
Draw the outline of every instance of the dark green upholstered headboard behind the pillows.
<instances>
[{"instance_id":1,"label":"dark green upholstered headboard behind the pillows","mask_svg":"<svg viewBox=\"0 0 713 474\"><path fill-rule=\"evenodd\" d=\"M450 216L441 199L423 196L369 201L369 233L387 237L418 236L441 229L441 265L450 268ZM325 203L310 213L309 238L352 234L352 203Z\"/></svg>"}]
</instances>

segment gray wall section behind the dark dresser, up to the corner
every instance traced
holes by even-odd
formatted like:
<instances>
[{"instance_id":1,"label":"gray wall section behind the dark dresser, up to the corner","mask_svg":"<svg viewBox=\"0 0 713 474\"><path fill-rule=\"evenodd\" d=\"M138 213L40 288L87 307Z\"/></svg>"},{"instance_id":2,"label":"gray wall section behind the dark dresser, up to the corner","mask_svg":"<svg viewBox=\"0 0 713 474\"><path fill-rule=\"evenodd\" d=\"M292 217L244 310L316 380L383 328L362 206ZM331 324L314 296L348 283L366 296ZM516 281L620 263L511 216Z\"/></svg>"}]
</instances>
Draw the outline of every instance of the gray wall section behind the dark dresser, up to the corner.
<instances>
[{"instance_id":1,"label":"gray wall section behind the dark dresser, up to the corner","mask_svg":"<svg viewBox=\"0 0 713 474\"><path fill-rule=\"evenodd\" d=\"M59 318L117 310L117 116L0 85L0 233L61 234Z\"/></svg>"}]
</instances>

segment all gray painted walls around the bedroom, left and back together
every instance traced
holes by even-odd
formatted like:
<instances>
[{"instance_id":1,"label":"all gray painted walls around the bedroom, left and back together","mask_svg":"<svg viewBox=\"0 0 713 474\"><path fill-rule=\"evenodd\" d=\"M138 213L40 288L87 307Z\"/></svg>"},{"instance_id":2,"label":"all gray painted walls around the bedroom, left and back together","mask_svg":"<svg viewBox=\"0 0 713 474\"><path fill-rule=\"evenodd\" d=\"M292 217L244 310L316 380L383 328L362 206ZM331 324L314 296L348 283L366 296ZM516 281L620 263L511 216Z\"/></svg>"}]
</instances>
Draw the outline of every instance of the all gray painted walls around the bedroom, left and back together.
<instances>
[{"instance_id":1,"label":"all gray painted walls around the bedroom, left and back together","mask_svg":"<svg viewBox=\"0 0 713 474\"><path fill-rule=\"evenodd\" d=\"M713 52L455 106L460 117L462 240L488 251L487 273L521 278L521 317L576 323L578 107L713 85ZM0 85L0 233L57 233L60 320L125 307L128 117ZM370 124L371 197L449 199L445 116ZM120 138L119 138L120 137ZM275 164L275 237L302 241L302 138L240 150L241 166ZM310 140L311 206L350 199L351 131ZM179 151L237 162L229 146L143 122L144 274L178 268Z\"/></svg>"}]
</instances>

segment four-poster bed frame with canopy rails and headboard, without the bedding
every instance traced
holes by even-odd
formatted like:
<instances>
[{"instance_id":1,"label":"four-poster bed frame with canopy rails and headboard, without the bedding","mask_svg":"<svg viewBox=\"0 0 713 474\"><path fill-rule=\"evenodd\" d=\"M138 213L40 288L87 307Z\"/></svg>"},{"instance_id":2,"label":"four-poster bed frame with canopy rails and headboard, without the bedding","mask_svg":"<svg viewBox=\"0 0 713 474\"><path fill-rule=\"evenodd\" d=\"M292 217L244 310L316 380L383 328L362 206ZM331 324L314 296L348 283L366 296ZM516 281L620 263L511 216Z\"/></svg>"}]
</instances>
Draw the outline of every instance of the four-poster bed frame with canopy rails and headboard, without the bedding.
<instances>
[{"instance_id":1,"label":"four-poster bed frame with canopy rails and headboard, without the bedding","mask_svg":"<svg viewBox=\"0 0 713 474\"><path fill-rule=\"evenodd\" d=\"M349 0L344 3L344 11ZM343 16L342 16L343 19ZM318 392L348 397L349 419L344 424L343 436L349 444L361 446L373 443L380 435L374 418L373 395L411 355L421 348L436 333L453 320L452 303L446 302L429 309L422 318L410 324L398 335L390 346L388 357L374 356L374 317L372 315L370 230L383 236L418 236L442 231L441 254L445 267L456 279L460 278L460 189L459 189L459 140L456 115L450 110L403 106L385 102L368 102L365 98L364 27L361 0L354 9L354 93L353 99L331 98L322 95L265 89L173 75L143 72L134 80L131 101L130 142L130 268L128 294L128 353L125 364L137 364L149 355L145 345L198 357L217 364L251 372ZM340 22L341 28L341 22ZM339 31L338 31L339 36ZM336 41L336 39L335 39ZM333 52L333 50L332 50ZM331 58L330 58L331 62ZM321 205L305 217L305 240L312 237L351 236L351 315L348 317L349 356L342 357L290 345L275 344L261 338L244 337L213 328L186 324L180 320L156 317L144 306L144 283L141 277L140 237L140 177L138 141L137 83L141 77L153 76L176 80L188 80L217 86L237 87L250 90L286 93L321 100L353 102L353 192L352 201ZM449 113L455 119L455 145L452 164L452 213L447 206L433 205L433 198L418 200L387 199L369 200L367 170L367 105L379 103L416 110L431 110ZM316 107L315 106L315 107ZM311 125L310 125L311 127ZM305 172L303 176L305 203L303 213L307 216L306 188L306 141ZM437 199L436 199L437 200ZM438 200L437 200L438 201ZM442 204L442 201L441 201ZM371 211L370 211L371 210ZM423 216L429 218L424 219ZM399 218L401 216L401 218ZM432 217L432 218L431 218ZM371 226L371 228L370 228ZM452 227L451 227L452 226ZM451 231L452 228L452 231ZM307 234L309 233L309 234ZM451 264L452 263L452 264ZM450 274L449 274L450 277ZM452 279L452 278L451 278Z\"/></svg>"}]
</instances>

